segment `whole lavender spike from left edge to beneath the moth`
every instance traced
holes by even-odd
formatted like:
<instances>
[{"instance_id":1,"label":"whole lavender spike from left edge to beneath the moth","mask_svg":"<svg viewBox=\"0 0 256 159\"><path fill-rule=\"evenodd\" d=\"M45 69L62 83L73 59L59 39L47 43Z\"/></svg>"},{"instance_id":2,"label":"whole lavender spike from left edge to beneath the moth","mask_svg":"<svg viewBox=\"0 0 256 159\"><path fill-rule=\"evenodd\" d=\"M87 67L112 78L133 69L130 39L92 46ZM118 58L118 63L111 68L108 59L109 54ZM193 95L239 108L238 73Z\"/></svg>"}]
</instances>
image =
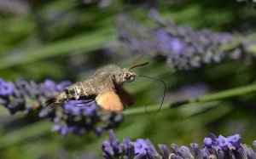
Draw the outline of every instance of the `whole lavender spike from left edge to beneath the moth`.
<instances>
[{"instance_id":1,"label":"whole lavender spike from left edge to beneath the moth","mask_svg":"<svg viewBox=\"0 0 256 159\"><path fill-rule=\"evenodd\" d=\"M49 118L55 123L53 131L61 134L75 133L82 135L94 131L97 135L105 129L113 128L122 121L123 115L117 113L102 113L95 101L71 100L62 107L49 109L44 107L44 101L60 92L71 82L55 83L45 80L43 83L27 82L19 79L6 82L0 78L0 105L5 106L11 114L24 111L26 114L35 112L38 117ZM84 104L79 104L79 103Z\"/></svg>"}]
</instances>

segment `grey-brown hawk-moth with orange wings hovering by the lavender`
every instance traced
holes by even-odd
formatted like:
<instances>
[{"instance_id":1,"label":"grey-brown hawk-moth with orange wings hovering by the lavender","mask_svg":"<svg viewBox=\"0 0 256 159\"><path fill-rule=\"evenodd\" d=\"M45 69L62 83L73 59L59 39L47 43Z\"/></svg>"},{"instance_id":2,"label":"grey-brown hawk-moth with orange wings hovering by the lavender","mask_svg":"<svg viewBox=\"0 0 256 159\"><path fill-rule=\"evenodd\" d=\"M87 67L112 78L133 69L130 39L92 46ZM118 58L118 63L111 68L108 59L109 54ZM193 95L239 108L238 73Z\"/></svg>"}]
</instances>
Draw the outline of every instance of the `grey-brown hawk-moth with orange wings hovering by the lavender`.
<instances>
[{"instance_id":1,"label":"grey-brown hawk-moth with orange wings hovering by the lavender","mask_svg":"<svg viewBox=\"0 0 256 159\"><path fill-rule=\"evenodd\" d=\"M143 55L137 58L129 68L118 65L106 65L84 79L76 82L55 97L45 101L45 105L59 105L68 100L91 99L106 111L124 111L126 105L133 105L135 100L127 93L122 85L124 82L133 82L137 74L131 71L138 66L148 65L148 62L137 65Z\"/></svg>"}]
</instances>

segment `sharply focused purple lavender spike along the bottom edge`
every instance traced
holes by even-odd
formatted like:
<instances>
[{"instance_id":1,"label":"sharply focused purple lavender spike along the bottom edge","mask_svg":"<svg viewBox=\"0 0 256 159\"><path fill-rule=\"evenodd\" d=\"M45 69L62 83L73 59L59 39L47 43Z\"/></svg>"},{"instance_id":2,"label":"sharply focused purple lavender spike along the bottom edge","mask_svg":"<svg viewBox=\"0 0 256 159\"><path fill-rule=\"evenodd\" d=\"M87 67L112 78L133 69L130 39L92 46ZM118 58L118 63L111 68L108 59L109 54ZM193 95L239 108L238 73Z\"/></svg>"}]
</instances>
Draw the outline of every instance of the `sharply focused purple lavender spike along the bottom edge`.
<instances>
[{"instance_id":1,"label":"sharply focused purple lavender spike along the bottom edge","mask_svg":"<svg viewBox=\"0 0 256 159\"><path fill-rule=\"evenodd\" d=\"M246 144L240 143L241 136L235 134L225 138L219 135L218 138L211 133L210 138L205 138L203 146L191 143L191 149L187 146L169 146L159 144L158 152L149 139L125 138L122 143L116 138L113 131L109 131L109 141L102 143L102 154L105 158L256 158L255 151ZM255 147L255 141L253 141Z\"/></svg>"}]
</instances>

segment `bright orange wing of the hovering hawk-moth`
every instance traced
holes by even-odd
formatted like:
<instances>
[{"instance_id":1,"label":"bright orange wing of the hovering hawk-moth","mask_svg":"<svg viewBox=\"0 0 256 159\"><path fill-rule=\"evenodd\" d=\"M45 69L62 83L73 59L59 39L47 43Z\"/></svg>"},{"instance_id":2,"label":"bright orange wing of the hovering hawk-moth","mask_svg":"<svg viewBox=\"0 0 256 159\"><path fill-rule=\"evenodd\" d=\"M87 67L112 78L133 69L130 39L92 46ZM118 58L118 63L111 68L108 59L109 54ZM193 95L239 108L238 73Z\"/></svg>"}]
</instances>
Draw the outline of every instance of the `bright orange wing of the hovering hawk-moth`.
<instances>
[{"instance_id":1,"label":"bright orange wing of the hovering hawk-moth","mask_svg":"<svg viewBox=\"0 0 256 159\"><path fill-rule=\"evenodd\" d=\"M96 96L96 103L106 111L124 111L122 99L114 91L104 91Z\"/></svg>"}]
</instances>

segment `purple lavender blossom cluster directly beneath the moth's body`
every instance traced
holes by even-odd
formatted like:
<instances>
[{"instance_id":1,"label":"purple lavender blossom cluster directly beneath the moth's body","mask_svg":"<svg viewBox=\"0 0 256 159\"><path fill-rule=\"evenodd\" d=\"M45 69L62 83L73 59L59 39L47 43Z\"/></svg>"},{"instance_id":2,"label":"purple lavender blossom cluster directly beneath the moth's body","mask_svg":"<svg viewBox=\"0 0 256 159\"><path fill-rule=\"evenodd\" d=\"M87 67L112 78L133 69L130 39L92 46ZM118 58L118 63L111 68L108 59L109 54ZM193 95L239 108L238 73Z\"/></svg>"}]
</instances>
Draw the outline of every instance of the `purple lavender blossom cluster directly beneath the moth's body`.
<instances>
[{"instance_id":1,"label":"purple lavender blossom cluster directly beneath the moth's body","mask_svg":"<svg viewBox=\"0 0 256 159\"><path fill-rule=\"evenodd\" d=\"M100 135L104 130L116 127L123 119L120 113L102 113L95 100L85 104L79 104L80 102L82 101L71 100L64 105L61 116L55 116L56 126L53 131L62 135L74 133L80 136L88 131L94 131L96 135ZM59 124L60 122L65 124Z\"/></svg>"}]
</instances>

